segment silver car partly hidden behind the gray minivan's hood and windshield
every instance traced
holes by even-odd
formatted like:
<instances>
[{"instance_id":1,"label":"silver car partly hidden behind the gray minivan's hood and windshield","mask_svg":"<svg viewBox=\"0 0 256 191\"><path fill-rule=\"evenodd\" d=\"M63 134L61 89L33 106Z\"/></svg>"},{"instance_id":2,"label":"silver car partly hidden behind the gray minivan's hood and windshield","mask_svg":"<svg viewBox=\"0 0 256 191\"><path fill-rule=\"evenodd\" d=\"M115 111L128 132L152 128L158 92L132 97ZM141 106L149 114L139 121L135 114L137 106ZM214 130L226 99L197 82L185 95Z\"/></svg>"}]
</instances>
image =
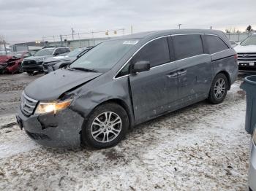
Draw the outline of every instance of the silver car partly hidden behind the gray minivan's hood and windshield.
<instances>
[{"instance_id":1,"label":"silver car partly hidden behind the gray minivan's hood and windshield","mask_svg":"<svg viewBox=\"0 0 256 191\"><path fill-rule=\"evenodd\" d=\"M48 74L51 71L55 71L57 69L61 69L91 49L92 47L79 47L75 50L72 50L67 55L46 58L42 63L42 69L44 70L45 74Z\"/></svg>"}]
</instances>

